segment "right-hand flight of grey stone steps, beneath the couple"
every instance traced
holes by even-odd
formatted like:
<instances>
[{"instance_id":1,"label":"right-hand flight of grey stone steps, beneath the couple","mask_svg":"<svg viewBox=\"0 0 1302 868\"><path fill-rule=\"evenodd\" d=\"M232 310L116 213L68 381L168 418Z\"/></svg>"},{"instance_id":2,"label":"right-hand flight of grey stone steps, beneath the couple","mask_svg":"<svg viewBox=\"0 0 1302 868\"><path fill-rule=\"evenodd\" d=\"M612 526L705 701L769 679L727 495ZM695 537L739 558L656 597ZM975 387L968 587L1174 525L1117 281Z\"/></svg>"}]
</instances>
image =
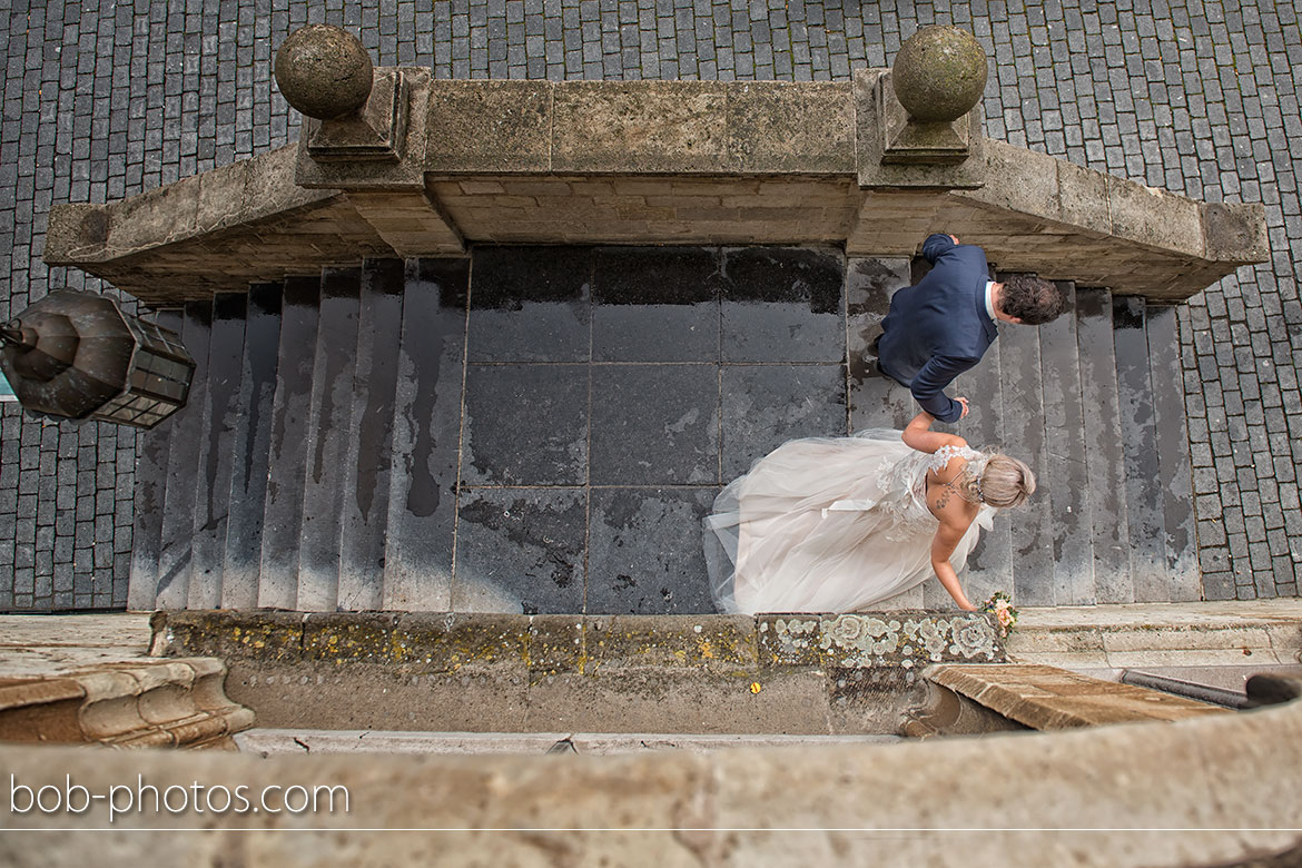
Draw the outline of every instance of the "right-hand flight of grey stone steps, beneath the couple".
<instances>
[{"instance_id":1,"label":"right-hand flight of grey stone steps, beneath the couple","mask_svg":"<svg viewBox=\"0 0 1302 868\"><path fill-rule=\"evenodd\" d=\"M921 276L917 264L906 280L906 263L852 260L852 347L855 332L871 346L891 293ZM1039 480L1035 506L1006 513L983 536L967 595L1013 590L1036 606L1199 600L1176 308L1059 288L1066 314L1038 329L1003 325L953 390L973 409L952 429L1003 446ZM855 368L852 355L853 427L901 427L915 405L874 360ZM900 604L945 606L948 595L926 583Z\"/></svg>"}]
</instances>

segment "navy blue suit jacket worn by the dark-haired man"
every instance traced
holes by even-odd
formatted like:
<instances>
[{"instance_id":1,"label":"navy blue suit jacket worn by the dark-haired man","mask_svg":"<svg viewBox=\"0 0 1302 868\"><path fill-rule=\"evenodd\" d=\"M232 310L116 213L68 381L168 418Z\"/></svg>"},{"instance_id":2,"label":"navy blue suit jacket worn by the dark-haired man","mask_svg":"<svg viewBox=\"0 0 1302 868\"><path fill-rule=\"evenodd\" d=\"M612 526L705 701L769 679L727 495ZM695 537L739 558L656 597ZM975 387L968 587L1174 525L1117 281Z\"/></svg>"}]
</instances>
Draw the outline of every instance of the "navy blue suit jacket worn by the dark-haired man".
<instances>
[{"instance_id":1,"label":"navy blue suit jacket worn by the dark-haired man","mask_svg":"<svg viewBox=\"0 0 1302 868\"><path fill-rule=\"evenodd\" d=\"M986 311L986 251L935 234L923 242L922 255L935 268L891 298L878 362L887 376L909 387L923 410L940 422L956 422L962 405L945 394L945 387L980 362L999 337Z\"/></svg>"}]
</instances>

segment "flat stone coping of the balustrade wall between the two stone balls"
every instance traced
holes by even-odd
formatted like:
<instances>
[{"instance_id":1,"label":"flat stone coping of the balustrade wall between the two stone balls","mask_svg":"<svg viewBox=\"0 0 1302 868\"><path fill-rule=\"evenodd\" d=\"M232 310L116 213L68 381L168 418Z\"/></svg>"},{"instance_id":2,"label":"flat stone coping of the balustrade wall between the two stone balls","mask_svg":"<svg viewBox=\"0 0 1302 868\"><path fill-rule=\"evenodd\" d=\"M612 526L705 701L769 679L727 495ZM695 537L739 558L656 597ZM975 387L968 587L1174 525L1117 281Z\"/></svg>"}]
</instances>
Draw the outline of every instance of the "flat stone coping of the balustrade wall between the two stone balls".
<instances>
[{"instance_id":1,"label":"flat stone coping of the balustrade wall between the two stone balls","mask_svg":"<svg viewBox=\"0 0 1302 868\"><path fill-rule=\"evenodd\" d=\"M850 82L436 81L435 174L853 174Z\"/></svg>"}]
</instances>

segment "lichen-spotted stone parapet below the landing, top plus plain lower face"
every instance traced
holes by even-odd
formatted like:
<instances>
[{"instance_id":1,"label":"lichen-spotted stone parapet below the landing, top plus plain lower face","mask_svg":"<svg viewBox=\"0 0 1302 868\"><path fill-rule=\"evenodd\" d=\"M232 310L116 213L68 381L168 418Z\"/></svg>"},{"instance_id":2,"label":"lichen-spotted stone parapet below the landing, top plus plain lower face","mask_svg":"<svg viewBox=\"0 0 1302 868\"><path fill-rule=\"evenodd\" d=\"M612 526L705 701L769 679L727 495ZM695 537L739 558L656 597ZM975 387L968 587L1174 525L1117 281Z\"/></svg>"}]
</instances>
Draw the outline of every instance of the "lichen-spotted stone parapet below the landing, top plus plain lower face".
<instances>
[{"instance_id":1,"label":"lichen-spotted stone parapet below the landing, top plus plain lower face","mask_svg":"<svg viewBox=\"0 0 1302 868\"><path fill-rule=\"evenodd\" d=\"M167 612L264 726L894 733L934 661L1004 658L988 616Z\"/></svg>"}]
</instances>

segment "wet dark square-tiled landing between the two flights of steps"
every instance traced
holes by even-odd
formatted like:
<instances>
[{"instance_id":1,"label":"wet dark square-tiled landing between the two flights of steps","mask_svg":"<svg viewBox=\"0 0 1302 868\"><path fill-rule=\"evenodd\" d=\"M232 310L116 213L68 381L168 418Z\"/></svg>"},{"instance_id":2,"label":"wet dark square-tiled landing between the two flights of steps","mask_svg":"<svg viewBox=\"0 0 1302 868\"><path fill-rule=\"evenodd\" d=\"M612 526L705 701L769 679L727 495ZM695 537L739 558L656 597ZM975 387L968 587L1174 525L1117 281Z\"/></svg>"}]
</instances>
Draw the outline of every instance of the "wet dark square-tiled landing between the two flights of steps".
<instances>
[{"instance_id":1,"label":"wet dark square-tiled landing between the two flights of steps","mask_svg":"<svg viewBox=\"0 0 1302 868\"><path fill-rule=\"evenodd\" d=\"M713 610L700 519L790 437L844 436L844 258L479 247L452 604Z\"/></svg>"}]
</instances>

